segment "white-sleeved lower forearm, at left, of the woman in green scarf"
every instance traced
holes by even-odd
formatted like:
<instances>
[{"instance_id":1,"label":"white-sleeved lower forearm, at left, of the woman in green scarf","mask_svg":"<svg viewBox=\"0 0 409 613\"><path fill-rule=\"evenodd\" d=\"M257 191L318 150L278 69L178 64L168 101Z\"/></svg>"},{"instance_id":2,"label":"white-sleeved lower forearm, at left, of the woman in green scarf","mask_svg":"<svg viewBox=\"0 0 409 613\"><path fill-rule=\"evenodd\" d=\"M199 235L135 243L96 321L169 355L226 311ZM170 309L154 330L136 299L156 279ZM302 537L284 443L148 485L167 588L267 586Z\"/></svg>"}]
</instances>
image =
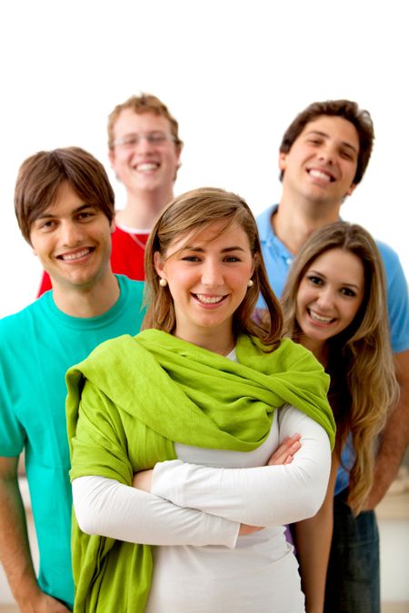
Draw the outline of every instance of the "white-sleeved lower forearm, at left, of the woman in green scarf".
<instances>
[{"instance_id":1,"label":"white-sleeved lower forearm, at left, of the woman in green scarf","mask_svg":"<svg viewBox=\"0 0 409 613\"><path fill-rule=\"evenodd\" d=\"M224 545L234 548L239 524L181 509L140 489L104 477L73 481L75 516L87 534L148 545Z\"/></svg>"}]
</instances>

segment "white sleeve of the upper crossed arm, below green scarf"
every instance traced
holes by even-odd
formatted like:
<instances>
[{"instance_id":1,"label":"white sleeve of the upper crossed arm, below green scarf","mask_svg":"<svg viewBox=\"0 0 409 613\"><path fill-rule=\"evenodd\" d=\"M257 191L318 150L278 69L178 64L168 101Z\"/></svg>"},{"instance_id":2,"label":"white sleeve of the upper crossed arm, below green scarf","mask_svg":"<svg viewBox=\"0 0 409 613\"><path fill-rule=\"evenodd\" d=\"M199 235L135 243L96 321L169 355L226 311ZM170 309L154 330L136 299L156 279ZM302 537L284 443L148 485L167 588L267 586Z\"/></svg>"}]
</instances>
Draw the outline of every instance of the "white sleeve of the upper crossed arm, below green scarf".
<instances>
[{"instance_id":1,"label":"white sleeve of the upper crossed arm, below green scarf","mask_svg":"<svg viewBox=\"0 0 409 613\"><path fill-rule=\"evenodd\" d=\"M279 438L301 434L291 464L216 469L181 460L155 465L152 493L190 509L253 526L275 526L314 516L324 500L331 450L316 421L285 407L279 410Z\"/></svg>"}]
</instances>

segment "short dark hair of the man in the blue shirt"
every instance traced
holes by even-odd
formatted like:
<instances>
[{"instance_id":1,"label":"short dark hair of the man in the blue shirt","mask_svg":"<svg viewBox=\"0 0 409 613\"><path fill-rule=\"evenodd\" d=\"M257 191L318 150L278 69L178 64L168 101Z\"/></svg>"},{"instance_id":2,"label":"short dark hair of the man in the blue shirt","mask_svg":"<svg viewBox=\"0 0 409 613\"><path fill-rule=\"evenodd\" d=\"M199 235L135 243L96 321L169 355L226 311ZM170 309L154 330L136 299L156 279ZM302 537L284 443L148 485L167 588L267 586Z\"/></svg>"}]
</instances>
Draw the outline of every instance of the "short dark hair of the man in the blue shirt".
<instances>
[{"instance_id":1,"label":"short dark hair of the man in the blue shirt","mask_svg":"<svg viewBox=\"0 0 409 613\"><path fill-rule=\"evenodd\" d=\"M354 125L359 138L359 153L353 183L359 183L371 157L374 144L374 124L368 111L360 109L358 104L351 100L327 100L307 106L286 129L280 144L280 153L288 153L294 141L303 132L305 125L322 115L342 117ZM284 172L280 174L280 180L283 180L283 176Z\"/></svg>"}]
</instances>

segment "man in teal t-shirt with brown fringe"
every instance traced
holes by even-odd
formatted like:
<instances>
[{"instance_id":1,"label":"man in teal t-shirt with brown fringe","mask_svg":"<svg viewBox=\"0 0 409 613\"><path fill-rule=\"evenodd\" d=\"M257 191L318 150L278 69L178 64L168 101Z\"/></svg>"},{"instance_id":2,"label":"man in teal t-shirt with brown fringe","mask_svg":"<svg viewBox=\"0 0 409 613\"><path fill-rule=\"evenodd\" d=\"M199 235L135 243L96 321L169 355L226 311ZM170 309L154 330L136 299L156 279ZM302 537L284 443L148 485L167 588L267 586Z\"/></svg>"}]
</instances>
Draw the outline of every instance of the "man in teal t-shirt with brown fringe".
<instances>
[{"instance_id":1,"label":"man in teal t-shirt with brown fringe","mask_svg":"<svg viewBox=\"0 0 409 613\"><path fill-rule=\"evenodd\" d=\"M20 229L53 285L0 321L0 558L23 612L64 613L74 602L65 371L142 323L143 283L111 271L114 203L104 167L77 147L35 153L15 185ZM23 451L38 578L17 480Z\"/></svg>"}]
</instances>

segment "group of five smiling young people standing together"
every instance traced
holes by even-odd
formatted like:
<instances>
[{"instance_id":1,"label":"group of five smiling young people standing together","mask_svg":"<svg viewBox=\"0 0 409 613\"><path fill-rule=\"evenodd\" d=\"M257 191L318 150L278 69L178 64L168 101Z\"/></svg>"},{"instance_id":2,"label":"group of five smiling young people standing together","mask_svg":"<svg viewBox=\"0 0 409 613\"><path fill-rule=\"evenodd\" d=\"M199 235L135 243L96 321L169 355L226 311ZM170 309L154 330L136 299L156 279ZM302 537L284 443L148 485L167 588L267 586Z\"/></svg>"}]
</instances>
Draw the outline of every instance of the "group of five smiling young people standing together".
<instances>
[{"instance_id":1,"label":"group of five smiling young people standing together","mask_svg":"<svg viewBox=\"0 0 409 613\"><path fill-rule=\"evenodd\" d=\"M373 142L357 104L309 105L257 219L222 189L174 198L183 143L151 94L109 116L121 210L78 147L22 164L45 276L0 321L0 558L23 612L380 613L408 293L397 254L340 219Z\"/></svg>"}]
</instances>

